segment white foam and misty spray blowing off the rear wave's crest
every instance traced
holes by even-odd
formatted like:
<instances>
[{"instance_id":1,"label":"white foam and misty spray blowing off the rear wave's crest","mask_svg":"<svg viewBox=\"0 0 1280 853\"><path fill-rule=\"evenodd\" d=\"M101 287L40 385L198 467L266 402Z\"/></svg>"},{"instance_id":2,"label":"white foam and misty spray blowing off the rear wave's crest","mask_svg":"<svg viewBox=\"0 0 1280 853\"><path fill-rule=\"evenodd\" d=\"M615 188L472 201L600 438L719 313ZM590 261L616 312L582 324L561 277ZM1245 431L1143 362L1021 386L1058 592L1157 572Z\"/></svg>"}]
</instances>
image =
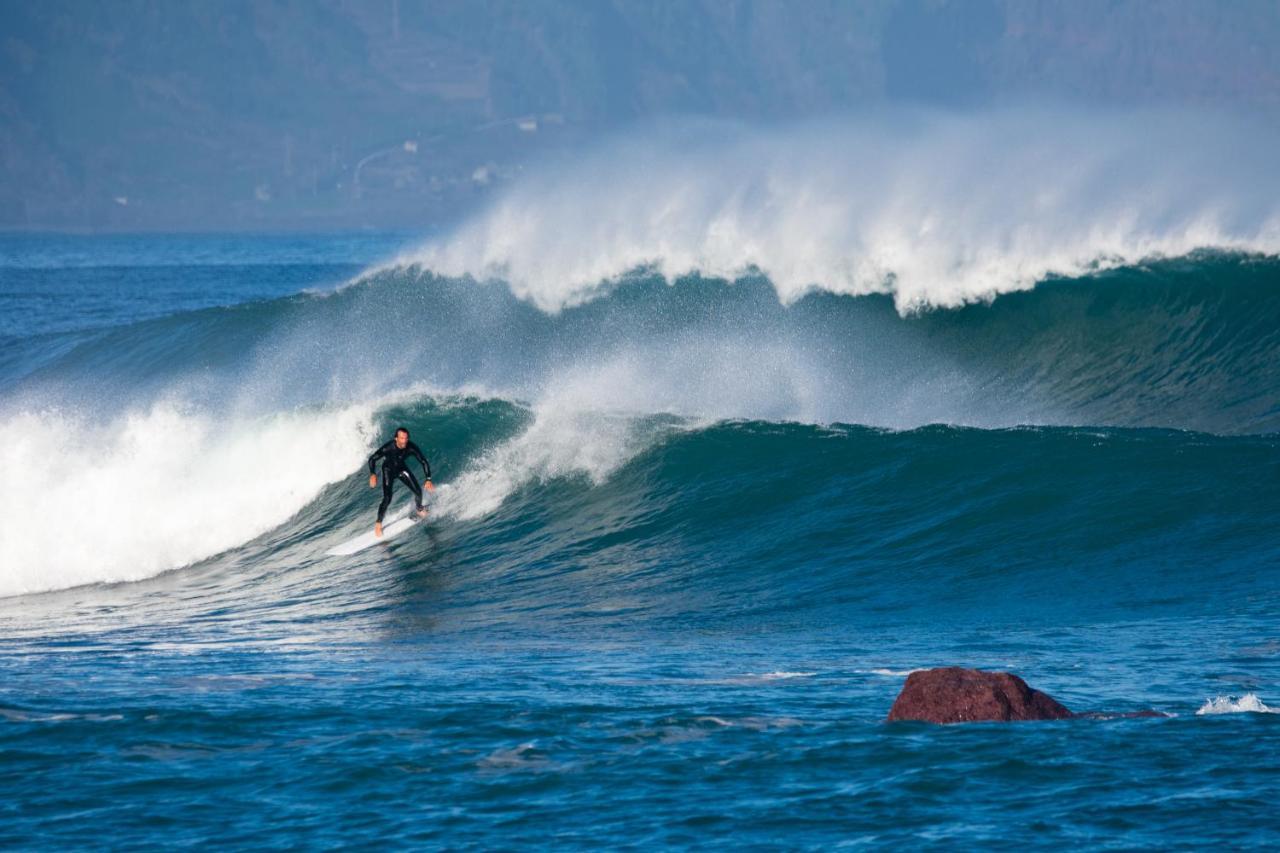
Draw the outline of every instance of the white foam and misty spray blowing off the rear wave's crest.
<instances>
[{"instance_id":1,"label":"white foam and misty spray blowing off the rear wave's crest","mask_svg":"<svg viewBox=\"0 0 1280 853\"><path fill-rule=\"evenodd\" d=\"M667 128L534 170L397 264L504 279L548 311L653 269L758 270L785 302L891 293L905 313L1197 248L1280 252L1280 136L1210 118L1023 109Z\"/></svg>"}]
</instances>

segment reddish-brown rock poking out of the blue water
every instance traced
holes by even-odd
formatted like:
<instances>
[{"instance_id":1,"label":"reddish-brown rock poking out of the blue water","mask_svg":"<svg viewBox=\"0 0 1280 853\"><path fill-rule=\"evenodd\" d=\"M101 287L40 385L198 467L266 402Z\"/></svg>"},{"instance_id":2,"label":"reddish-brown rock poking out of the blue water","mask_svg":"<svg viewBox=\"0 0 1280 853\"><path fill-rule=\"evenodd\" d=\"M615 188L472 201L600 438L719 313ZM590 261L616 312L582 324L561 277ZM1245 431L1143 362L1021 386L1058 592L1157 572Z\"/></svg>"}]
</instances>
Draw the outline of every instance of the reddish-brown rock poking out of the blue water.
<instances>
[{"instance_id":1,"label":"reddish-brown rock poking out of the blue water","mask_svg":"<svg viewBox=\"0 0 1280 853\"><path fill-rule=\"evenodd\" d=\"M1012 672L983 672L960 666L919 670L906 676L888 721L1007 722L1073 717L1052 697L1027 686Z\"/></svg>"}]
</instances>

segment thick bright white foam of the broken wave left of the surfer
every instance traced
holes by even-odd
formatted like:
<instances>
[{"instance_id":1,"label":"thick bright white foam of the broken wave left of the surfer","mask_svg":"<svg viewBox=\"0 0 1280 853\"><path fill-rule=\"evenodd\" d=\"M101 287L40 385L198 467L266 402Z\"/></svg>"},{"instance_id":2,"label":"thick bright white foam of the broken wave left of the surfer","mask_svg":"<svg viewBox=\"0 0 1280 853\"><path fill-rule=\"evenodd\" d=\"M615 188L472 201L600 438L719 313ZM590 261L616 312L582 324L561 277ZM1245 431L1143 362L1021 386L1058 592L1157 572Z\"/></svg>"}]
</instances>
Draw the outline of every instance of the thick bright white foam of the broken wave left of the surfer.
<instances>
[{"instance_id":1,"label":"thick bright white foam of the broken wave left of the surfer","mask_svg":"<svg viewBox=\"0 0 1280 853\"><path fill-rule=\"evenodd\" d=\"M0 596L138 580L289 519L367 452L370 411L224 419L169 402L0 421Z\"/></svg>"}]
</instances>

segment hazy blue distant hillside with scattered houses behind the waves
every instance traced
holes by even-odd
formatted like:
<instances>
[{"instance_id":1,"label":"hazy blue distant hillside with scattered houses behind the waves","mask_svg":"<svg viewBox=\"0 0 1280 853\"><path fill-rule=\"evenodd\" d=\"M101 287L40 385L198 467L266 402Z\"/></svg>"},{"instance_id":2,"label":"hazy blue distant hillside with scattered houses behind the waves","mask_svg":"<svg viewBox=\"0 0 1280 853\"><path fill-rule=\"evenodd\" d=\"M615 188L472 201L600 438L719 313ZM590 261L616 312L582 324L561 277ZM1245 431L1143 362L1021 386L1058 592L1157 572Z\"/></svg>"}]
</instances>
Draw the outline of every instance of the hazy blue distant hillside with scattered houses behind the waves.
<instances>
[{"instance_id":1,"label":"hazy blue distant hillside with scattered houses behind the waves","mask_svg":"<svg viewBox=\"0 0 1280 853\"><path fill-rule=\"evenodd\" d=\"M0 227L453 219L635 119L1053 96L1280 113L1238 0L0 0Z\"/></svg>"}]
</instances>

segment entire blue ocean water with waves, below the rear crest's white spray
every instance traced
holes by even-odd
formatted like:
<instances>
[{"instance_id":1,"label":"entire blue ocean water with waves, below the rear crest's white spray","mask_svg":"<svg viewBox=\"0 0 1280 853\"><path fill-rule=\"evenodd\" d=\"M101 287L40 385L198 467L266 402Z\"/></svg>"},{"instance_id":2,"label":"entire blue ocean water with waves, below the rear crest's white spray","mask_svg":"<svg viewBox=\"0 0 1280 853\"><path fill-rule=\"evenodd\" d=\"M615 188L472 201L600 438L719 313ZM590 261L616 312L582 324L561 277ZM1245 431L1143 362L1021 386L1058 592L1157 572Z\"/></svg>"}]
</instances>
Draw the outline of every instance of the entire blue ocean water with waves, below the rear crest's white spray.
<instances>
[{"instance_id":1,"label":"entire blue ocean water with waves, below the rear crest's white spray","mask_svg":"<svg viewBox=\"0 0 1280 853\"><path fill-rule=\"evenodd\" d=\"M549 310L408 242L0 238L0 848L1280 844L1280 260ZM428 524L326 556L399 425ZM884 722L945 665L1101 716Z\"/></svg>"}]
</instances>

